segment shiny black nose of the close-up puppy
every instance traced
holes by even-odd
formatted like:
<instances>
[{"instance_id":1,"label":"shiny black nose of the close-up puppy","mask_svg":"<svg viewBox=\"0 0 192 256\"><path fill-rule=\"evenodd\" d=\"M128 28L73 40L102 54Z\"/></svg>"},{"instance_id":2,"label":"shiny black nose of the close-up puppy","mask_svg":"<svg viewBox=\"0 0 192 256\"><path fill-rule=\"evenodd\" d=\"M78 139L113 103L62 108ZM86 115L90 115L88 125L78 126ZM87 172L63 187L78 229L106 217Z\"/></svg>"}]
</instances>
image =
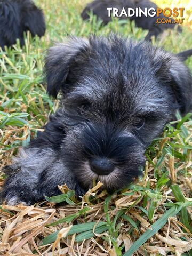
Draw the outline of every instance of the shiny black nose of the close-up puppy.
<instances>
[{"instance_id":1,"label":"shiny black nose of the close-up puppy","mask_svg":"<svg viewBox=\"0 0 192 256\"><path fill-rule=\"evenodd\" d=\"M115 169L113 163L110 163L107 159L103 158L92 159L90 161L90 167L91 170L98 175L108 175Z\"/></svg>"}]
</instances>

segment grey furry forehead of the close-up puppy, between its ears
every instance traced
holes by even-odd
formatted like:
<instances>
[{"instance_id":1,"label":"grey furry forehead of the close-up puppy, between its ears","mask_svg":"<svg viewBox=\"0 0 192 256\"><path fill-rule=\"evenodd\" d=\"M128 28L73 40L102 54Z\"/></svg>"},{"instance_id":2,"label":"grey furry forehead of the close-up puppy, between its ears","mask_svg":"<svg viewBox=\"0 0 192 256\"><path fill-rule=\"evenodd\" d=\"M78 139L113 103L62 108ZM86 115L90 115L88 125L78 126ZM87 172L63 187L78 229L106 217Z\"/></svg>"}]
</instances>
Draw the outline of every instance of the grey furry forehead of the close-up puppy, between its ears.
<instances>
[{"instance_id":1,"label":"grey furry forehead of the close-up puppy, between its ears","mask_svg":"<svg viewBox=\"0 0 192 256\"><path fill-rule=\"evenodd\" d=\"M90 47L89 61L71 92L74 96L81 95L100 103L106 97L113 103L114 98L118 98L119 102L135 103L140 108L163 104L166 90L158 85L157 65L154 64L165 55L163 51L132 41L119 44L95 41Z\"/></svg>"}]
</instances>

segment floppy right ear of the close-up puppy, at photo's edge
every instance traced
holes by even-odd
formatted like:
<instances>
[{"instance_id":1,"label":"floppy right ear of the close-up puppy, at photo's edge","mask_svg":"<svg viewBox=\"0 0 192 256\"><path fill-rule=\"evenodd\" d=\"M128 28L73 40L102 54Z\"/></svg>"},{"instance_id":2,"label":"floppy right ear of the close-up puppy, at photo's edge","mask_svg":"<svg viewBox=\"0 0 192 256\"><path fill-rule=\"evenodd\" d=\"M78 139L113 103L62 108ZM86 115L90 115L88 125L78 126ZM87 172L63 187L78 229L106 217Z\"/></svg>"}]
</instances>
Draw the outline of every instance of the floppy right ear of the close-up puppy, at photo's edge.
<instances>
[{"instance_id":1,"label":"floppy right ear of the close-up puppy, at photo's edge","mask_svg":"<svg viewBox=\"0 0 192 256\"><path fill-rule=\"evenodd\" d=\"M158 55L158 64L160 60L162 60L161 65L156 75L164 82L165 86L170 86L171 93L175 98L174 103L177 103L181 113L188 113L192 109L192 76L190 70L185 66L182 58L177 55L163 53L162 59Z\"/></svg>"}]
</instances>

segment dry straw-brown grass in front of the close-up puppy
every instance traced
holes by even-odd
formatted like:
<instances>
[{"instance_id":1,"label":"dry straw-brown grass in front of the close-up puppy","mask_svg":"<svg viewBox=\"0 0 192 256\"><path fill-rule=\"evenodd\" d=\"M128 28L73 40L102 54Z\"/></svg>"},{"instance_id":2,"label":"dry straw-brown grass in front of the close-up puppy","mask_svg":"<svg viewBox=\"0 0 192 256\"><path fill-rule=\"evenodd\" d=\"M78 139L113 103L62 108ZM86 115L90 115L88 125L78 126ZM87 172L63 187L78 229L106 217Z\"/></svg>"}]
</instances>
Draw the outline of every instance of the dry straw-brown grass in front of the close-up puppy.
<instances>
[{"instance_id":1,"label":"dry straw-brown grass in front of the close-up puppy","mask_svg":"<svg viewBox=\"0 0 192 256\"><path fill-rule=\"evenodd\" d=\"M11 136L11 135L10 135ZM9 140L11 137L7 137ZM12 140L12 139L11 139ZM163 144L167 139L163 139L159 149L163 149ZM7 141L5 141L7 143ZM161 155L161 152L157 155ZM9 152L10 153L10 152ZM12 152L10 153L12 155ZM3 164L6 164L7 154L3 157ZM157 157L153 159L155 163ZM165 157L163 165L167 166L170 171L169 178L172 183L178 183L185 197L190 197L191 180L182 175L177 175L179 170L189 168L191 162L182 163L178 169L174 169L174 162L178 160L173 157ZM135 184L145 188L150 184L150 188L155 190L157 180L154 178L154 167L150 164L146 165L145 177L143 180L135 181ZM3 181L1 182L1 184ZM156 220L162 217L165 212L164 204L166 202L175 202L172 190L168 186L162 186L162 196L157 201L156 211L152 221L149 221L146 214L143 214L137 206L143 206L145 196L142 190L135 191L134 194L122 195L123 193L131 193L132 190L125 189L121 193L114 194L109 201L108 211L106 212L105 199L107 195L105 191L99 189L89 191L77 205L57 206L51 202L41 202L34 206L9 206L2 205L0 221L1 221L1 255L118 255L114 244L111 242L111 234L105 231L103 234L94 233L94 237L83 242L75 241L76 235L66 234L70 230L71 225L85 222L106 221L108 214L109 219L113 223L115 216L119 211L123 211L124 215L130 217L138 228L134 228L129 221L122 217L117 219L115 227L118 226L116 237L116 246L124 245L123 251L127 251L137 239L145 234L147 229L151 228ZM94 193L94 194L93 194ZM93 195L94 199L90 199ZM149 199L149 198L148 198ZM91 201L91 202L90 202ZM145 209L149 209L148 201ZM88 206L90 210L81 217L75 218L71 222L60 223L56 226L46 227L48 223L58 221L61 218L77 213L79 210ZM188 208L188 214L191 217L192 211ZM118 225L117 225L118 224ZM49 245L41 245L44 237L55 231L60 230L57 241ZM105 239L103 239L105 237ZM134 255L181 255L192 247L191 231L183 225L180 217L170 217L166 225L161 228L153 237L142 245ZM146 254L147 253L147 254ZM186 254L187 255L187 254Z\"/></svg>"}]
</instances>

